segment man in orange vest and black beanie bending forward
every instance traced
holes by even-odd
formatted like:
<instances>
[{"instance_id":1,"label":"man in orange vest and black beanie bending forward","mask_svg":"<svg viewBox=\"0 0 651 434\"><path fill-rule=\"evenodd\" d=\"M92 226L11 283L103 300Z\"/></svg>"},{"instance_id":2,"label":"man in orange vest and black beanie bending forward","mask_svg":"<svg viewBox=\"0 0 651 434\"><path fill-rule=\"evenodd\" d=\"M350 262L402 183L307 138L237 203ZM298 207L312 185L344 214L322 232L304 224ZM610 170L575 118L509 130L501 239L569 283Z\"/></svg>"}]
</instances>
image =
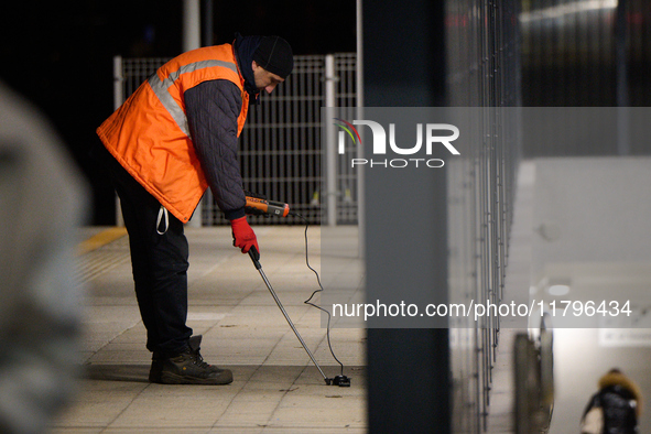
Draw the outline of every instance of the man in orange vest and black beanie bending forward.
<instances>
[{"instance_id":1,"label":"man in orange vest and black beanie bending forward","mask_svg":"<svg viewBox=\"0 0 651 434\"><path fill-rule=\"evenodd\" d=\"M186 326L188 246L183 224L205 189L230 221L234 246L258 248L245 215L237 139L260 90L293 68L279 36L181 54L161 66L97 133L129 232L133 280L153 352L150 381L225 384L232 373L203 361L200 336Z\"/></svg>"}]
</instances>

